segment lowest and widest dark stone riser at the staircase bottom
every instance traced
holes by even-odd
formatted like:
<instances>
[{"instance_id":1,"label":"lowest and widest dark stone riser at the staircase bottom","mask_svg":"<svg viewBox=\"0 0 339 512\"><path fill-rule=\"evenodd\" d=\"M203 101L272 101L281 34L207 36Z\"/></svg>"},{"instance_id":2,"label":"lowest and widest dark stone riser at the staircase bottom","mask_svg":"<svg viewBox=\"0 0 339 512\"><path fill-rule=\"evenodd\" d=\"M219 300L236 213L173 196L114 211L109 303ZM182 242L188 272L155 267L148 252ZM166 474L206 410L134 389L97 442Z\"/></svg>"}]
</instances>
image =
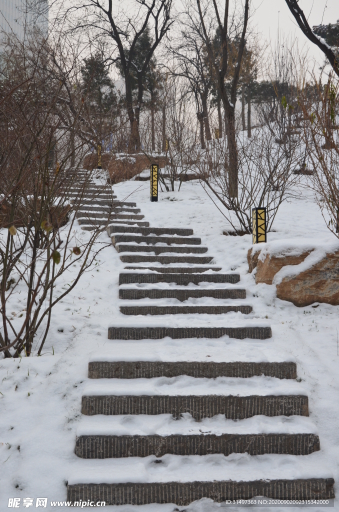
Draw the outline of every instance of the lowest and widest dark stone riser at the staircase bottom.
<instances>
[{"instance_id":1,"label":"lowest and widest dark stone riser at the staircase bottom","mask_svg":"<svg viewBox=\"0 0 339 512\"><path fill-rule=\"evenodd\" d=\"M104 501L105 505L146 505L173 503L187 506L208 498L217 503L226 500L268 499L327 500L334 498L333 478L279 479L250 481L193 481L148 483L76 483L68 484L67 500L71 502Z\"/></svg>"}]
</instances>

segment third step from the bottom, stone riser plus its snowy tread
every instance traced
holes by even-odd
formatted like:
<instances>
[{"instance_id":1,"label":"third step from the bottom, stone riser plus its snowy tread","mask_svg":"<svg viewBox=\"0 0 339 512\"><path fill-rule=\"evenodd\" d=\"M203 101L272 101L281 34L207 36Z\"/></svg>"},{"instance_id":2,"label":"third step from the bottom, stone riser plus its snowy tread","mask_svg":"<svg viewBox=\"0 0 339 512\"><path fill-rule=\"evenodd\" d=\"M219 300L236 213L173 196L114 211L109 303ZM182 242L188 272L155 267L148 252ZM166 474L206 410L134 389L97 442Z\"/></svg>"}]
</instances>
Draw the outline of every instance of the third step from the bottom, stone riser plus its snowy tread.
<instances>
[{"instance_id":1,"label":"third step from the bottom, stone riser plus its snowy tread","mask_svg":"<svg viewBox=\"0 0 339 512\"><path fill-rule=\"evenodd\" d=\"M189 413L197 421L218 414L239 420L256 415L308 416L298 382L272 377L93 379L82 396L82 414Z\"/></svg>"}]
</instances>

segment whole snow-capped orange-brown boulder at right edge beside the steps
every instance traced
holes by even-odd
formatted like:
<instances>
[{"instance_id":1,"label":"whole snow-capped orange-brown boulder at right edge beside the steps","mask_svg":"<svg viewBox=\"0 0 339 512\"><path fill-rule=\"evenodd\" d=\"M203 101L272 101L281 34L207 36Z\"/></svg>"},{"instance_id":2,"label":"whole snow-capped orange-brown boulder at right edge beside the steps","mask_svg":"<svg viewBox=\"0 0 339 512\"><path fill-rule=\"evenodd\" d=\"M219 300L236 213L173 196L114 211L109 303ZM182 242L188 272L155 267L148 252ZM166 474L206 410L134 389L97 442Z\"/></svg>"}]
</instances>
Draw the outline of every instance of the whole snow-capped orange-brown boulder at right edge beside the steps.
<instances>
[{"instance_id":1,"label":"whole snow-capped orange-brown boulder at right edge beside the steps","mask_svg":"<svg viewBox=\"0 0 339 512\"><path fill-rule=\"evenodd\" d=\"M262 245L253 246L247 254L249 271L257 268L257 284L276 285L277 297L295 306L339 305L338 243L329 244L327 251L315 244L285 249L274 243Z\"/></svg>"}]
</instances>

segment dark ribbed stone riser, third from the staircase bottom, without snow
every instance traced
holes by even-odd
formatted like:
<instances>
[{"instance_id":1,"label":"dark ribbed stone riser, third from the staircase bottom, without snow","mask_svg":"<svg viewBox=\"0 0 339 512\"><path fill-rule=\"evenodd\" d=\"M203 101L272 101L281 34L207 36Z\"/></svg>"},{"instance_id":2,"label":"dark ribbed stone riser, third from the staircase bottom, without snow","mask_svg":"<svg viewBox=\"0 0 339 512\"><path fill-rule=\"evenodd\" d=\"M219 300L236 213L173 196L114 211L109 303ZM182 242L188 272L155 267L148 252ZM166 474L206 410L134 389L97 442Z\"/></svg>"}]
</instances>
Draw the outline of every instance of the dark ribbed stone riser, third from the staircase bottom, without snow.
<instances>
[{"instance_id":1,"label":"dark ribbed stone riser, third from the staircase bottom, without snow","mask_svg":"<svg viewBox=\"0 0 339 512\"><path fill-rule=\"evenodd\" d=\"M81 413L96 414L172 414L180 418L189 413L196 421L223 414L239 420L252 416L308 416L306 395L84 395Z\"/></svg>"}]
</instances>

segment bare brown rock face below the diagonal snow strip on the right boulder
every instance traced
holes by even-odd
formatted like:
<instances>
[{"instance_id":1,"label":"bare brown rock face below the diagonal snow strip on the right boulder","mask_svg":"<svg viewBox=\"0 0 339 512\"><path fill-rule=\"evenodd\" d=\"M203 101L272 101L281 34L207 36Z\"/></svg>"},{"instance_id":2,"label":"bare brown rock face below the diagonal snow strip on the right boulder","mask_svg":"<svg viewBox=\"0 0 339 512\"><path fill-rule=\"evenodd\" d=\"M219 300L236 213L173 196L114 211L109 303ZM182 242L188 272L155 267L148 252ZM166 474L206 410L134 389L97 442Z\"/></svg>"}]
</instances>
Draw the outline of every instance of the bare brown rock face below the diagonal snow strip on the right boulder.
<instances>
[{"instance_id":1,"label":"bare brown rock face below the diagonal snow strip on the right boulder","mask_svg":"<svg viewBox=\"0 0 339 512\"><path fill-rule=\"evenodd\" d=\"M295 306L309 306L313 302L339 305L339 251L309 270L285 278L277 285L277 296Z\"/></svg>"}]
</instances>

